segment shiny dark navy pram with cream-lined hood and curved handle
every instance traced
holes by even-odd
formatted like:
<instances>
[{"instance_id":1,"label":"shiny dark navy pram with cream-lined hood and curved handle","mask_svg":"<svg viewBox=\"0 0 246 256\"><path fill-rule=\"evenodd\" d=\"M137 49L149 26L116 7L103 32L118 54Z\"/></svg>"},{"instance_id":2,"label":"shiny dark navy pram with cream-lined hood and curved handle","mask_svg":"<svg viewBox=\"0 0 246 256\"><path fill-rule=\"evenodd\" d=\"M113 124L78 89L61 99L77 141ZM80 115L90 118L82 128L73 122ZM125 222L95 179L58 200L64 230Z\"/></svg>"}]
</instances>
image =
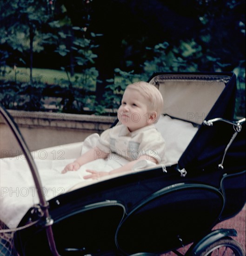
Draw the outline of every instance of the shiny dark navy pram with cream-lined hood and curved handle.
<instances>
[{"instance_id":1,"label":"shiny dark navy pram with cream-lined hood and curved handle","mask_svg":"<svg viewBox=\"0 0 246 256\"><path fill-rule=\"evenodd\" d=\"M0 108L40 198L14 233L19 255L180 255L177 249L190 243L186 255L245 255L231 238L236 230L211 231L246 199L245 118L234 121L235 74L156 73L149 82L163 94L164 115L198 127L179 161L78 186L48 201L25 141Z\"/></svg>"}]
</instances>

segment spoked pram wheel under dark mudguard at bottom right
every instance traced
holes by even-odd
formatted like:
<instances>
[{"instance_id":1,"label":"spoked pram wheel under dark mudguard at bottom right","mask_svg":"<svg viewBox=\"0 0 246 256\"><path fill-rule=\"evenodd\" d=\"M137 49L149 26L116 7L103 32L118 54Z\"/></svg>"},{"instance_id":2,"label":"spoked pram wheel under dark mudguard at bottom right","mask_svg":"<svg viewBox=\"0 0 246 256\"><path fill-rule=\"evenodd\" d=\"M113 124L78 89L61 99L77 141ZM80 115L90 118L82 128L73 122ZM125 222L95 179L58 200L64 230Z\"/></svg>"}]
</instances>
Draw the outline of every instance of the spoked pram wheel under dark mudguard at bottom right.
<instances>
[{"instance_id":1,"label":"spoked pram wheel under dark mudguard at bottom right","mask_svg":"<svg viewBox=\"0 0 246 256\"><path fill-rule=\"evenodd\" d=\"M241 245L231 237L221 238L208 246L200 256L245 256Z\"/></svg>"}]
</instances>

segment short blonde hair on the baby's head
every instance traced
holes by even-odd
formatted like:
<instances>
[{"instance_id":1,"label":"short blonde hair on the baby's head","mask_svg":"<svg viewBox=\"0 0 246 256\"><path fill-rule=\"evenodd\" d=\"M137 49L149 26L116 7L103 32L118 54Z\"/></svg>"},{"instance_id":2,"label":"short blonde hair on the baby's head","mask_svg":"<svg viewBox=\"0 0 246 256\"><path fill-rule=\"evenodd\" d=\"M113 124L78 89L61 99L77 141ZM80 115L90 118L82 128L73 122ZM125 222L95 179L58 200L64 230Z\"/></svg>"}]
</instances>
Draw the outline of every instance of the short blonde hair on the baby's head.
<instances>
[{"instance_id":1,"label":"short blonde hair on the baby's head","mask_svg":"<svg viewBox=\"0 0 246 256\"><path fill-rule=\"evenodd\" d=\"M140 81L138 83L129 84L127 89L136 90L147 101L147 107L149 111L155 111L157 113L157 120L159 119L163 109L163 98L160 91L152 84Z\"/></svg>"}]
</instances>

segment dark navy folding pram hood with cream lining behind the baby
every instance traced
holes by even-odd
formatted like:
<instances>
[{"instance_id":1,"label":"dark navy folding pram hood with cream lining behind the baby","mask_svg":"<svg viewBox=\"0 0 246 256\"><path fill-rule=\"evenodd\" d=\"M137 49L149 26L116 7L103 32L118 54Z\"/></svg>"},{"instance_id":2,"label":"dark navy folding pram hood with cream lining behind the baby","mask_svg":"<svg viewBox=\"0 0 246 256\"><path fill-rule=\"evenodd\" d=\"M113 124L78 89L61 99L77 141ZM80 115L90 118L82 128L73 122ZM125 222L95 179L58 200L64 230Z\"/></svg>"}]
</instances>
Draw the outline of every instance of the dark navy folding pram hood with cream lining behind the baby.
<instances>
[{"instance_id":1,"label":"dark navy folding pram hood with cream lining behind the baby","mask_svg":"<svg viewBox=\"0 0 246 256\"><path fill-rule=\"evenodd\" d=\"M178 167L188 173L206 168L218 169L235 130L226 122L205 125L214 119L234 120L237 93L233 73L153 74L149 81L164 97L163 114L200 125L181 155ZM204 122L205 121L205 122ZM222 168L227 172L245 169L245 132L239 132L226 152Z\"/></svg>"}]
</instances>

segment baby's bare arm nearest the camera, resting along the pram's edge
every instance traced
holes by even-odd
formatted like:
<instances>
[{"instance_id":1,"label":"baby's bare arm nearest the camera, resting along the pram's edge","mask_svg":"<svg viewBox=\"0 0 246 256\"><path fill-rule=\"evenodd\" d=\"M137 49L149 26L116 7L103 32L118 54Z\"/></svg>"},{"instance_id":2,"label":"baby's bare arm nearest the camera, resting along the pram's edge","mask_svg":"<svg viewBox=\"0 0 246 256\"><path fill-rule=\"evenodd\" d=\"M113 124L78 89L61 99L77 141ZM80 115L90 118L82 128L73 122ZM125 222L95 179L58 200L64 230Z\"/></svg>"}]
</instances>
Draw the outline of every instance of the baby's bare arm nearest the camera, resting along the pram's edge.
<instances>
[{"instance_id":1,"label":"baby's bare arm nearest the camera, resting along the pram's edge","mask_svg":"<svg viewBox=\"0 0 246 256\"><path fill-rule=\"evenodd\" d=\"M141 155L139 159L128 162L127 164L123 165L122 167L114 169L110 172L98 172L98 171L87 169L86 172L89 172L90 174L84 176L83 178L84 179L97 179L97 178L100 178L101 176L112 175L115 173L130 171L130 170L132 170L132 168L136 162L139 162L140 160L145 160L145 159L148 159L154 163L157 163L157 160L154 159L153 157L148 157L147 155Z\"/></svg>"}]
</instances>

